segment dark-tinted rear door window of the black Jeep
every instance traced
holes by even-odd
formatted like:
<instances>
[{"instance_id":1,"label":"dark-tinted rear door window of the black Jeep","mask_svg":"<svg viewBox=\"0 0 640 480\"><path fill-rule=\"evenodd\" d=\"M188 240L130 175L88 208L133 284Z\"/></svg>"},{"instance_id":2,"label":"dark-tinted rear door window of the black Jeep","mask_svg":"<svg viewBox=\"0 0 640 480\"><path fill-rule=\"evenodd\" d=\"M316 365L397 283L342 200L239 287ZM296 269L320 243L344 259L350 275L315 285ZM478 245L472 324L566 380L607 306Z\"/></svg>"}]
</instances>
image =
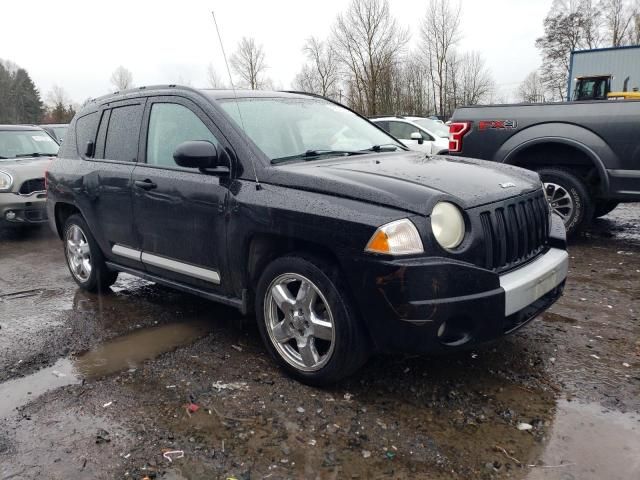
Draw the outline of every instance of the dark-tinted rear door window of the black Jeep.
<instances>
[{"instance_id":1,"label":"dark-tinted rear door window of the black Jeep","mask_svg":"<svg viewBox=\"0 0 640 480\"><path fill-rule=\"evenodd\" d=\"M125 105L111 110L104 144L106 160L136 161L142 112L142 105Z\"/></svg>"}]
</instances>

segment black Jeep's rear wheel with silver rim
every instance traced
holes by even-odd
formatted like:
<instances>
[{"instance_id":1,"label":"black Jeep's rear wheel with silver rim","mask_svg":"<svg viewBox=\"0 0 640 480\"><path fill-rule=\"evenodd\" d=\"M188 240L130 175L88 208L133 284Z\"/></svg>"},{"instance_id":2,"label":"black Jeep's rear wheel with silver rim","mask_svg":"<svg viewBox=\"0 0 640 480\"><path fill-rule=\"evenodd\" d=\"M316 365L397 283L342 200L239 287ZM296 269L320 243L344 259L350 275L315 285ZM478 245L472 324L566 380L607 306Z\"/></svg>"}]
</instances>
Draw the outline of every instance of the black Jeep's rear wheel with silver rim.
<instances>
[{"instance_id":1,"label":"black Jeep's rear wheel with silver rim","mask_svg":"<svg viewBox=\"0 0 640 480\"><path fill-rule=\"evenodd\" d=\"M71 215L64 224L64 256L73 280L88 292L109 292L118 272L109 270L84 218Z\"/></svg>"}]
</instances>

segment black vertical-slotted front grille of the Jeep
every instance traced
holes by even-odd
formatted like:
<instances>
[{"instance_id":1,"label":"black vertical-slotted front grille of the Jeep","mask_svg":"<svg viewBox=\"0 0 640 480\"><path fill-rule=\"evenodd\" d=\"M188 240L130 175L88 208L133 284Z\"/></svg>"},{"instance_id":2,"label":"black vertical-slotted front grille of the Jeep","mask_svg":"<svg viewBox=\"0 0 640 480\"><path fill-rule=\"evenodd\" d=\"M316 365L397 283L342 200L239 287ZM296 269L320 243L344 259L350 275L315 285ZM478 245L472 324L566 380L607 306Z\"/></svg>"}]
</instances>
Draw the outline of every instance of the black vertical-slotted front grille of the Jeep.
<instances>
[{"instance_id":1,"label":"black vertical-slotted front grille of the Jeep","mask_svg":"<svg viewBox=\"0 0 640 480\"><path fill-rule=\"evenodd\" d=\"M549 205L542 191L480 213L485 267L505 271L538 255L549 239Z\"/></svg>"}]
</instances>

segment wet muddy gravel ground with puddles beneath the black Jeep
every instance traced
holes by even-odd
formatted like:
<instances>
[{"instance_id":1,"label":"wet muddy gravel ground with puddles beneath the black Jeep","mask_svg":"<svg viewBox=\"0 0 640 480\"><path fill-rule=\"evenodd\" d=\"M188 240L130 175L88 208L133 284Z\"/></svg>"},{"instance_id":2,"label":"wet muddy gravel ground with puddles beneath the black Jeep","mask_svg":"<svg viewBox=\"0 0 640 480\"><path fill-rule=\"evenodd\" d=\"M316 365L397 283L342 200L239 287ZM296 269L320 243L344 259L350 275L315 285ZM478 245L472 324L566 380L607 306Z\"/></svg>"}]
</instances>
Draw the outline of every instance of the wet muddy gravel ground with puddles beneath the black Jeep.
<instances>
[{"instance_id":1,"label":"wet muddy gravel ground with puddles beneath the black Jeep","mask_svg":"<svg viewBox=\"0 0 640 480\"><path fill-rule=\"evenodd\" d=\"M564 298L521 332L325 390L252 318L125 275L83 293L48 230L2 232L0 479L638 479L639 218L574 242Z\"/></svg>"}]
</instances>

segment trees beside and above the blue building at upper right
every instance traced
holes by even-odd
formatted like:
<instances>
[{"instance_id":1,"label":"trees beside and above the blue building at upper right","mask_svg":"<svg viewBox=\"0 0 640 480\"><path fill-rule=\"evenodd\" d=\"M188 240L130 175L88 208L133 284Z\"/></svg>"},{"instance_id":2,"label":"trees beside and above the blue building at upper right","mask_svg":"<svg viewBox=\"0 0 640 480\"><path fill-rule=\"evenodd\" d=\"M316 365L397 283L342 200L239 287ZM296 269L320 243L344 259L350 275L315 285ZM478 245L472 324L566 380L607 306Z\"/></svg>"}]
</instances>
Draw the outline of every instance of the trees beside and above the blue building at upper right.
<instances>
[{"instance_id":1,"label":"trees beside and above the blue building at upper right","mask_svg":"<svg viewBox=\"0 0 640 480\"><path fill-rule=\"evenodd\" d=\"M640 45L640 0L554 0L543 23L542 65L520 84L520 101L565 100L572 51Z\"/></svg>"}]
</instances>

